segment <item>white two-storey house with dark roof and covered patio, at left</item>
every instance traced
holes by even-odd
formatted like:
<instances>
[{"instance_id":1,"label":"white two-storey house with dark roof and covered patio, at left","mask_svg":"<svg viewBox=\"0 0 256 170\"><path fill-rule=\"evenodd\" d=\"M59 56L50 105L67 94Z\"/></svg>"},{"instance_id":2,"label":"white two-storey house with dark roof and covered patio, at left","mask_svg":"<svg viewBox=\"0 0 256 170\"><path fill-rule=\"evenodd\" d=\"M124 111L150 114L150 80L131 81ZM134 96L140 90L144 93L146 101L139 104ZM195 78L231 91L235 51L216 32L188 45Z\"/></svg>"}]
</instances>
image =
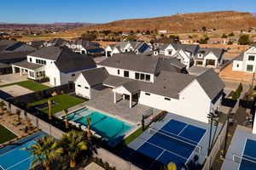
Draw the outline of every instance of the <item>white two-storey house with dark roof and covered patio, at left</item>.
<instances>
[{"instance_id":1,"label":"white two-storey house with dark roof and covered patio, at left","mask_svg":"<svg viewBox=\"0 0 256 170\"><path fill-rule=\"evenodd\" d=\"M52 86L73 80L80 72L96 67L89 56L73 53L67 47L45 47L27 55L26 61L12 65L13 72L26 74L32 80L49 78Z\"/></svg>"}]
</instances>

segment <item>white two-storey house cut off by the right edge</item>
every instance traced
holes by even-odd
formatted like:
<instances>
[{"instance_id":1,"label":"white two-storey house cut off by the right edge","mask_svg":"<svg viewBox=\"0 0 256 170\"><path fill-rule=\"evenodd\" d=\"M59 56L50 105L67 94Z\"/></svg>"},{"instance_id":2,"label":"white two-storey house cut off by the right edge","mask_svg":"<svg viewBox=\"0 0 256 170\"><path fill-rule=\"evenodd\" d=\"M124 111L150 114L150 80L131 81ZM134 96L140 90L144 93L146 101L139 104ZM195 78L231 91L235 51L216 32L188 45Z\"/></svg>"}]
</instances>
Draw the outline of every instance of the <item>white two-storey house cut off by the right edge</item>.
<instances>
[{"instance_id":1,"label":"white two-storey house cut off by the right edge","mask_svg":"<svg viewBox=\"0 0 256 170\"><path fill-rule=\"evenodd\" d=\"M232 70L246 72L256 71L256 45L248 48L234 59Z\"/></svg>"}]
</instances>

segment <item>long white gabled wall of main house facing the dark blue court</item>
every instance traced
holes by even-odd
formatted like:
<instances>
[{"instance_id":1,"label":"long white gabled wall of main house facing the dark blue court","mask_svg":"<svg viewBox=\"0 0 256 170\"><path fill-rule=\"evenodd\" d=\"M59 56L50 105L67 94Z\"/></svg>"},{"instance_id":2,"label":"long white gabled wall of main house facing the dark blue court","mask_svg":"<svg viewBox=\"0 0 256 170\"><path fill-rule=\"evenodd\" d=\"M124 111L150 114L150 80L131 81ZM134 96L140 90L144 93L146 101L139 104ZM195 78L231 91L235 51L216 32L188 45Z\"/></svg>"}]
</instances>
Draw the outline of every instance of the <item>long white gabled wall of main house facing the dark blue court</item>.
<instances>
[{"instance_id":1,"label":"long white gabled wall of main house facing the dark blue court","mask_svg":"<svg viewBox=\"0 0 256 170\"><path fill-rule=\"evenodd\" d=\"M210 111L211 99L208 98L197 81L191 82L179 95L179 99L166 100L165 96L146 95L146 92L141 92L139 104L162 111L170 111L201 122L208 122L207 114Z\"/></svg>"}]
</instances>

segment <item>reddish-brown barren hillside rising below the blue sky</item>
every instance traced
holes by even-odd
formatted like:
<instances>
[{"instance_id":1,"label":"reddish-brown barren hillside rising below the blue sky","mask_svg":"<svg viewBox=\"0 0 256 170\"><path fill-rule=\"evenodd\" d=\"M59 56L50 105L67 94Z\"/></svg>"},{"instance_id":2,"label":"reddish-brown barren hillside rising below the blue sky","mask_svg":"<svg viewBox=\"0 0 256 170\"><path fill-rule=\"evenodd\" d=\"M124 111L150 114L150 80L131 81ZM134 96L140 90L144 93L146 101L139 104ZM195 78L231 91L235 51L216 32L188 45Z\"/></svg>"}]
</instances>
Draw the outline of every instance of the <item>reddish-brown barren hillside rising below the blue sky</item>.
<instances>
[{"instance_id":1,"label":"reddish-brown barren hillside rising below the blue sky","mask_svg":"<svg viewBox=\"0 0 256 170\"><path fill-rule=\"evenodd\" d=\"M175 14L148 19L117 20L107 24L79 27L67 31L67 34L80 35L88 30L111 31L154 31L191 32L206 26L209 29L240 31L256 26L256 18L251 13L218 11L209 13Z\"/></svg>"}]
</instances>

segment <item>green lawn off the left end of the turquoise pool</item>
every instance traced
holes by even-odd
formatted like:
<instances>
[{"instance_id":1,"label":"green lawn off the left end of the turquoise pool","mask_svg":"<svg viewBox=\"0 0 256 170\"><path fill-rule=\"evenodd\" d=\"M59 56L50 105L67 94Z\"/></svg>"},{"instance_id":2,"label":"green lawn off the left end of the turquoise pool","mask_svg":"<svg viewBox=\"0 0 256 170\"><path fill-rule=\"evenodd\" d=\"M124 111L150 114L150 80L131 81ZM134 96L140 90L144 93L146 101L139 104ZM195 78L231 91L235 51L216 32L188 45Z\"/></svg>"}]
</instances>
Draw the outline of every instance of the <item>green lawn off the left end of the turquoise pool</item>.
<instances>
[{"instance_id":1,"label":"green lawn off the left end of the turquoise pool","mask_svg":"<svg viewBox=\"0 0 256 170\"><path fill-rule=\"evenodd\" d=\"M57 104L52 106L52 113L55 114L59 111L63 111L64 109L68 109L70 107L73 107L74 105L79 105L84 102L83 99L75 98L73 96L67 95L67 94L61 94L57 95L52 98ZM47 103L48 99L43 99L37 102L32 103L31 105L40 105ZM41 111L44 111L44 113L48 114L49 108L44 107L41 109Z\"/></svg>"}]
</instances>

